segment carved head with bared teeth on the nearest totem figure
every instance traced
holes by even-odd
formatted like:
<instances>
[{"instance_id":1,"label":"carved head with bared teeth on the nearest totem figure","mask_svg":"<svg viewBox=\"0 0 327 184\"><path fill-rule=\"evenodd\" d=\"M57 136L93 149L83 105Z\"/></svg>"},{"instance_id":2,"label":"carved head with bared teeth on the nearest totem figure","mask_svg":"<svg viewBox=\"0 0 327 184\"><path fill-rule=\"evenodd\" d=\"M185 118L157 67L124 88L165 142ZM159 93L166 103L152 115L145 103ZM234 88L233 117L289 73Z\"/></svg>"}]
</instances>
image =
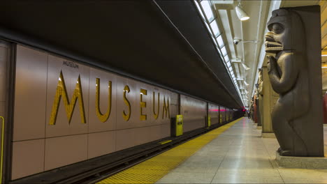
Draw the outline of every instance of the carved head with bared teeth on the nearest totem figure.
<instances>
[{"instance_id":1,"label":"carved head with bared teeth on the nearest totem figure","mask_svg":"<svg viewBox=\"0 0 327 184\"><path fill-rule=\"evenodd\" d=\"M268 22L266 52L277 54L282 50L302 51L305 34L300 16L290 10L274 10Z\"/></svg>"}]
</instances>

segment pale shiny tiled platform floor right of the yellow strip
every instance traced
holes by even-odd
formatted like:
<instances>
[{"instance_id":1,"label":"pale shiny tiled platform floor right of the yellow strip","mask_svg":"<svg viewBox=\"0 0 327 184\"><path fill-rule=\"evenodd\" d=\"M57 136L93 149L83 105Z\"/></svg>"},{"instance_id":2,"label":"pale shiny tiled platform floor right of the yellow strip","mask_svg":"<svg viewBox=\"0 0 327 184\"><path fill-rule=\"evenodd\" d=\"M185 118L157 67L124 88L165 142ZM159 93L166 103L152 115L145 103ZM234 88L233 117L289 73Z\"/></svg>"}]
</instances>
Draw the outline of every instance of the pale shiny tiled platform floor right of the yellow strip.
<instances>
[{"instance_id":1,"label":"pale shiny tiled platform floor right of the yellow strip","mask_svg":"<svg viewBox=\"0 0 327 184\"><path fill-rule=\"evenodd\" d=\"M324 137L327 156L327 126ZM242 118L157 183L327 183L327 169L278 168L278 147Z\"/></svg>"}]
</instances>

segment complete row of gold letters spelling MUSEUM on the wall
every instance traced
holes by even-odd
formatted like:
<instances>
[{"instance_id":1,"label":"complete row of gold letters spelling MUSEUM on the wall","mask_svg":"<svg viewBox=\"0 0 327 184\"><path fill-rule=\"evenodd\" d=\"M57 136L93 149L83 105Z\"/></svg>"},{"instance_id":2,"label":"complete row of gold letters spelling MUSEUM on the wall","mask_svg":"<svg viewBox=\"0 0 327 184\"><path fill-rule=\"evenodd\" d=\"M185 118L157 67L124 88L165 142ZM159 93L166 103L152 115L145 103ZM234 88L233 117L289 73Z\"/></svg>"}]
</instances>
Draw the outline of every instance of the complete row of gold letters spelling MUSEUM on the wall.
<instances>
[{"instance_id":1,"label":"complete row of gold letters spelling MUSEUM on the wall","mask_svg":"<svg viewBox=\"0 0 327 184\"><path fill-rule=\"evenodd\" d=\"M96 108L96 116L99 118L101 122L106 122L108 118L110 117L111 112L111 102L112 102L112 82L108 81L108 108L106 110L106 113L103 114L100 109L100 79L96 78L96 95L95 95L95 108ZM131 102L129 102L129 99L126 96L126 93L130 93L131 89L129 89L129 86L124 86L123 91L123 99L124 104L126 105L127 110L122 111L122 117L125 121L129 121L131 118ZM143 101L143 95L147 95L147 89L140 89L140 121L146 121L147 120L147 114L143 112L143 108L147 107L147 102ZM153 103L152 103L152 116L154 119L158 119L159 117L159 107L160 107L160 93L153 92ZM157 98L156 98L157 96ZM80 119L81 123L87 123L85 118L85 109L84 109L84 101L83 101L83 93L82 93L82 84L80 82L80 75L78 75L78 79L76 81L76 86L73 91L73 96L71 98L71 102L69 102L68 94L66 90L66 84L64 80L64 75L62 74L62 71L60 71L56 94L54 95L54 102L52 105L52 111L50 114L50 125L55 125L57 120L57 114L59 110L60 101L64 101L64 106L66 110L66 116L68 118L68 123L71 123L71 118L73 116L73 112L75 109L76 102L78 101L79 109L80 109ZM157 101L157 107L155 105ZM162 118L170 118L170 112L169 112L169 98L167 98L166 103L166 97L163 96L163 107L162 107Z\"/></svg>"}]
</instances>

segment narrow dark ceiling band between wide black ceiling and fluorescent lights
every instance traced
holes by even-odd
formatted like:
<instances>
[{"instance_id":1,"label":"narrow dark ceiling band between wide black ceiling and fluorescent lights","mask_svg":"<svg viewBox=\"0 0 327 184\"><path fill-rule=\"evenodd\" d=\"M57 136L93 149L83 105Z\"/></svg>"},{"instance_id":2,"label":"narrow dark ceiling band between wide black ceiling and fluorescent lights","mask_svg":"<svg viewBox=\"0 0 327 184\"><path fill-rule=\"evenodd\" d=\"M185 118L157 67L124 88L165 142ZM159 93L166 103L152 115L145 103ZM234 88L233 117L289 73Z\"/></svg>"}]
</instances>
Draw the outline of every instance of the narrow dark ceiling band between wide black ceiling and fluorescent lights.
<instances>
[{"instance_id":1,"label":"narrow dark ceiling band between wide black ceiling and fluorescent lights","mask_svg":"<svg viewBox=\"0 0 327 184\"><path fill-rule=\"evenodd\" d=\"M233 98L240 102L240 97L235 86L229 77L227 69L212 42L212 36L208 33L205 24L198 15L193 1L156 1L164 13L177 26L189 43L198 52L203 61L208 64L210 69L217 75L221 82L226 86ZM241 103L241 102L240 102Z\"/></svg>"}]
</instances>

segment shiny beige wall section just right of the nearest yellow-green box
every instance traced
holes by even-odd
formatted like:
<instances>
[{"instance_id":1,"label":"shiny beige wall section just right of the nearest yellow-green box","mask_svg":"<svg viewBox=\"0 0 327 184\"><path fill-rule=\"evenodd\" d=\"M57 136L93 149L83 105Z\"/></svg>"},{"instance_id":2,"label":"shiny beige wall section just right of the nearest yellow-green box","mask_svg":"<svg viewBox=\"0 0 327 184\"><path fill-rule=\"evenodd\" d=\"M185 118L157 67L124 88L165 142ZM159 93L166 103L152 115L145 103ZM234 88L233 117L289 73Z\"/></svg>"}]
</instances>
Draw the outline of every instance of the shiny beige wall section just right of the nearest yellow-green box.
<instances>
[{"instance_id":1,"label":"shiny beige wall section just right of the nearest yellow-green box","mask_svg":"<svg viewBox=\"0 0 327 184\"><path fill-rule=\"evenodd\" d=\"M186 95L180 95L180 103L184 132L205 127L205 116L207 116L206 102Z\"/></svg>"}]
</instances>

